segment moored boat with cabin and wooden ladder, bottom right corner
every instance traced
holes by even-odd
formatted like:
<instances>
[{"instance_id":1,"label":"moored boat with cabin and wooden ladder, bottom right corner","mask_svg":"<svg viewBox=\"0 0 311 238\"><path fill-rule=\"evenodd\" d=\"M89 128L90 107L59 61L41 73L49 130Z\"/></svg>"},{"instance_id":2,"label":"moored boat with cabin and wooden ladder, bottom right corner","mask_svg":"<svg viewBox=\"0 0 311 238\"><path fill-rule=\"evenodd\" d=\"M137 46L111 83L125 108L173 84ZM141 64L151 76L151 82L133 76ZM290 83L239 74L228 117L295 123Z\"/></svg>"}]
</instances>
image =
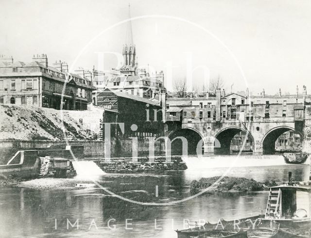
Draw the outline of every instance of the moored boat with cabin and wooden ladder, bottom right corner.
<instances>
[{"instance_id":1,"label":"moored boat with cabin and wooden ladder, bottom right corner","mask_svg":"<svg viewBox=\"0 0 311 238\"><path fill-rule=\"evenodd\" d=\"M270 188L265 214L176 232L178 238L310 238L299 235L305 229L311 232L311 182L295 183L290 172L287 184Z\"/></svg>"}]
</instances>

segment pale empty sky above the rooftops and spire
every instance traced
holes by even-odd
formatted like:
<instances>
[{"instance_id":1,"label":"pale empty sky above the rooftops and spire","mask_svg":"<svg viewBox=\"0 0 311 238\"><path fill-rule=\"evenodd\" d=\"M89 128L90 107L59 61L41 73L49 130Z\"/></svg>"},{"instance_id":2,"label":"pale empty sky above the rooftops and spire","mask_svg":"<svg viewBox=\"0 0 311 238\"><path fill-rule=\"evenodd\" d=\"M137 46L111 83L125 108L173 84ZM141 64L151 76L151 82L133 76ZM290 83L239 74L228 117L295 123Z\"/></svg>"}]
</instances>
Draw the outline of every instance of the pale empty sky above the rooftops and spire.
<instances>
[{"instance_id":1,"label":"pale empty sky above the rooftops and spire","mask_svg":"<svg viewBox=\"0 0 311 238\"><path fill-rule=\"evenodd\" d=\"M15 61L31 62L34 54L45 53L50 64L101 68L99 52L121 53L127 41L128 0L0 1L0 54ZM273 95L279 88L294 94L296 85L311 92L309 0L130 5L138 64L149 72L163 70L169 90L184 79L202 89L219 76L227 93L248 87L254 95L262 89ZM104 54L105 70L117 65L114 54Z\"/></svg>"}]
</instances>

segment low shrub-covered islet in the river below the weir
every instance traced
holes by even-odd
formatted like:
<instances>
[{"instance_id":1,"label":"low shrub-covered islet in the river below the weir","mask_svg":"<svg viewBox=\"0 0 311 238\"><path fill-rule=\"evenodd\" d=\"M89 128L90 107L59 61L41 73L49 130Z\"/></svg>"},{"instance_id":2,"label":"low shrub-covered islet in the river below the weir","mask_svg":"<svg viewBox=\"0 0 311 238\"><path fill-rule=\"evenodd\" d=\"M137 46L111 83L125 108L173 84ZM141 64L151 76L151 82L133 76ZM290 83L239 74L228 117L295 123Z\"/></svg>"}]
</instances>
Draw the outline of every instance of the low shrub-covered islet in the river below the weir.
<instances>
[{"instance_id":1,"label":"low shrub-covered islet in the river below the weir","mask_svg":"<svg viewBox=\"0 0 311 238\"><path fill-rule=\"evenodd\" d=\"M210 191L260 191L266 188L264 183L257 182L254 179L225 176L219 182L217 182L219 178L220 176L201 178L199 181L192 180L190 183L190 193L198 193L210 186L212 186Z\"/></svg>"}]
</instances>

